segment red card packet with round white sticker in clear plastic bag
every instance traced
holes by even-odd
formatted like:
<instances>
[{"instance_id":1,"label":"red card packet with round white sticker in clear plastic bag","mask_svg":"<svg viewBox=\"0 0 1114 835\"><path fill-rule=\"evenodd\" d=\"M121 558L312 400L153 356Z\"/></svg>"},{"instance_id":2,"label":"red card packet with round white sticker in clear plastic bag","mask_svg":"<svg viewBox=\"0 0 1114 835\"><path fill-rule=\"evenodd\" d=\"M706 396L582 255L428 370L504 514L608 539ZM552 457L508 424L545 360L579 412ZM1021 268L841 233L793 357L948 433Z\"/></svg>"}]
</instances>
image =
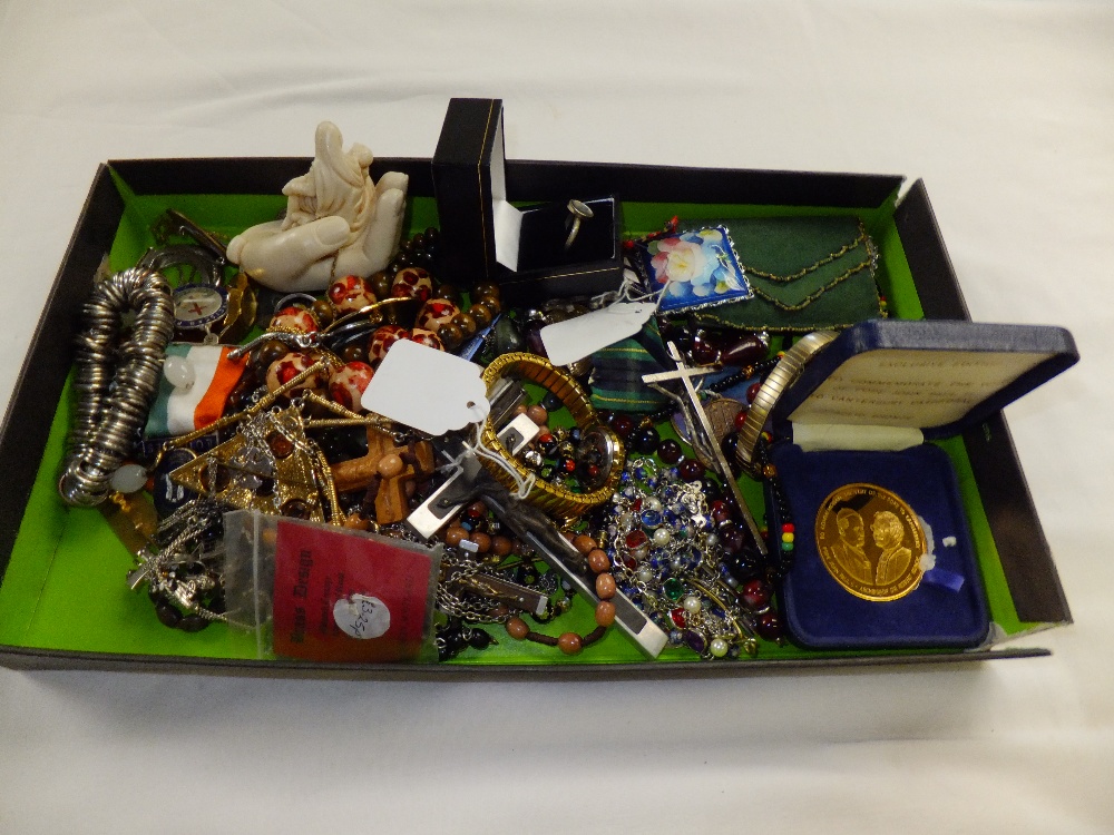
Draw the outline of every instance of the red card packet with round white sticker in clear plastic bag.
<instances>
[{"instance_id":1,"label":"red card packet with round white sticker in clear plastic bag","mask_svg":"<svg viewBox=\"0 0 1114 835\"><path fill-rule=\"evenodd\" d=\"M440 548L255 511L225 517L225 543L229 620L261 655L410 661L432 646Z\"/></svg>"}]
</instances>

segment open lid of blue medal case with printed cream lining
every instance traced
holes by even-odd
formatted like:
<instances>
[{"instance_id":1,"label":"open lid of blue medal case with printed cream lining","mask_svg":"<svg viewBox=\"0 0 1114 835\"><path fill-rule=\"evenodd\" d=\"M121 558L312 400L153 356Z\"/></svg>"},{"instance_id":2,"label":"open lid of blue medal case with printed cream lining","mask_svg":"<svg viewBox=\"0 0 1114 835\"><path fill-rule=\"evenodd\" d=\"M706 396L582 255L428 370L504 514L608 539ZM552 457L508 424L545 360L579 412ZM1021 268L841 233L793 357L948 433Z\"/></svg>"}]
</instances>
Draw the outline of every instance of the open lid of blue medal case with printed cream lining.
<instances>
[{"instance_id":1,"label":"open lid of blue medal case with printed cream lining","mask_svg":"<svg viewBox=\"0 0 1114 835\"><path fill-rule=\"evenodd\" d=\"M908 428L948 438L1078 358L1062 327L871 320L809 362L774 406L774 424Z\"/></svg>"}]
</instances>

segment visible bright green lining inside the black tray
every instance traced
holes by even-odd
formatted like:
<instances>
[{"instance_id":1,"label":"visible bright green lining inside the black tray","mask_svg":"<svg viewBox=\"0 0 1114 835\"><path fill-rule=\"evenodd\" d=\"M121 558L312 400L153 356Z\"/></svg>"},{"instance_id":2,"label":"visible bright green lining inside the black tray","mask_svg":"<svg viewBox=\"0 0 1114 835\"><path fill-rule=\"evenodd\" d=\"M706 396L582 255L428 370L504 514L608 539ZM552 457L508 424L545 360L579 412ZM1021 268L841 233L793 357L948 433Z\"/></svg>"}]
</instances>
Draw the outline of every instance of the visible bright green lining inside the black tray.
<instances>
[{"instance_id":1,"label":"visible bright green lining inside the black tray","mask_svg":"<svg viewBox=\"0 0 1114 835\"><path fill-rule=\"evenodd\" d=\"M109 262L114 271L135 264L154 242L149 229L167 208L176 208L201 226L227 236L256 223L273 219L284 206L282 196L255 195L158 195L137 196L118 176L117 189L125 212L111 244ZM672 216L756 217L815 214L856 214L879 246L878 281L889 302L890 315L920 318L922 311L906 261L900 236L893 224L895 197L879 207L830 209L824 207L709 205L675 203L625 203L625 233L643 235ZM410 200L408 234L437 225L432 198ZM66 434L71 414L71 391L67 384L53 414L50 434L42 452L38 477L28 502L7 573L0 584L0 644L71 651L137 654L154 656L207 657L226 659L256 658L254 636L224 625L187 635L164 627L143 592L131 592L125 576L134 561L119 543L97 510L67 508L58 497L57 478L65 455ZM670 433L671 430L665 430ZM1007 633L1015 635L1036 625L1018 620L1009 595L994 538L967 453L960 439L940 443L951 456L959 475L962 499L968 511L971 534L986 584L993 620ZM761 487L742 479L747 503L756 518L763 518ZM594 627L593 611L584 600L576 600L560 621L560 630L582 633ZM557 627L550 626L548 631ZM539 630L546 631L545 627ZM492 635L498 646L487 650L466 650L452 664L618 664L644 660L641 652L616 629L590 651L576 657L528 641L514 641L500 628ZM817 652L784 644L761 645L760 658L819 658L881 652ZM666 649L659 662L692 661L685 649ZM740 661L745 664L745 658Z\"/></svg>"}]
</instances>

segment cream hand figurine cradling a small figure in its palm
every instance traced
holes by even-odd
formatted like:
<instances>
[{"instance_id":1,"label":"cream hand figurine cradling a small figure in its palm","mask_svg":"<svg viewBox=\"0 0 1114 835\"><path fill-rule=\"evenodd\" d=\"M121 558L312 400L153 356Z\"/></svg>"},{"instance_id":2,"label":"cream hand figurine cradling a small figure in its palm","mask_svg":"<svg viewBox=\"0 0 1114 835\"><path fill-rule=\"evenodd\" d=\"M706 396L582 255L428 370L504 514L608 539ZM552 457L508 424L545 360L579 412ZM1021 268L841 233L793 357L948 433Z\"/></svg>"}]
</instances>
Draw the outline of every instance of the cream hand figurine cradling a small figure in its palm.
<instances>
[{"instance_id":1,"label":"cream hand figurine cradling a small figure in its palm","mask_svg":"<svg viewBox=\"0 0 1114 835\"><path fill-rule=\"evenodd\" d=\"M228 244L228 259L265 287L323 291L333 278L387 267L402 233L409 177L389 171L371 181L372 154L346 151L340 129L317 126L310 170L287 183L286 217L260 224Z\"/></svg>"}]
</instances>

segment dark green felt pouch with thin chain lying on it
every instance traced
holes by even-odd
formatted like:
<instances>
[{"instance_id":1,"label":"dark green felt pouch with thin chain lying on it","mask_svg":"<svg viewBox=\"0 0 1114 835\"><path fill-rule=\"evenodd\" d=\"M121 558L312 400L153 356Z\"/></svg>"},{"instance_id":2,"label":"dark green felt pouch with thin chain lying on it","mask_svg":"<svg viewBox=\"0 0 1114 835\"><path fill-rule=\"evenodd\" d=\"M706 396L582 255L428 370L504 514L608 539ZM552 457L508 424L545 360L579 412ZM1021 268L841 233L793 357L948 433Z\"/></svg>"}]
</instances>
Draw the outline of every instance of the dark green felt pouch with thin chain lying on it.
<instances>
[{"instance_id":1,"label":"dark green felt pouch with thin chain lying on it","mask_svg":"<svg viewBox=\"0 0 1114 835\"><path fill-rule=\"evenodd\" d=\"M848 327L882 315L874 283L878 250L858 218L701 223L729 229L754 296L692 314L698 322L803 333Z\"/></svg>"}]
</instances>

